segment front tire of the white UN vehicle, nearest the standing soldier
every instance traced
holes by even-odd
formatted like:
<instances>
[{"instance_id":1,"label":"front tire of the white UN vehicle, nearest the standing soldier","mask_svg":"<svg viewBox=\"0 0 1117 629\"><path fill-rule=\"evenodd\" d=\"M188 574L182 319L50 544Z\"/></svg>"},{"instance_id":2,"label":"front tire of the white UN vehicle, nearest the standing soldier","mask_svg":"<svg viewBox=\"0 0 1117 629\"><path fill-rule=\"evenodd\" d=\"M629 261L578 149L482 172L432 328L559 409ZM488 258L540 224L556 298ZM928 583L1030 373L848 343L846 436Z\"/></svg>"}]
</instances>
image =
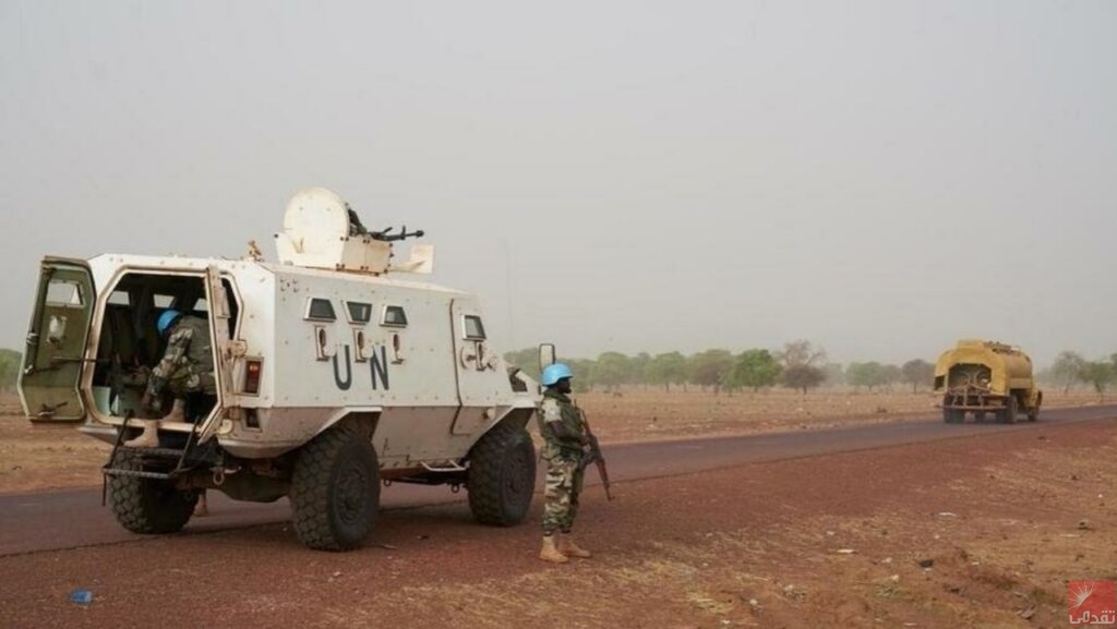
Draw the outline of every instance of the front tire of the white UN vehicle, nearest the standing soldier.
<instances>
[{"instance_id":1,"label":"front tire of the white UN vehicle, nearest the standing soldier","mask_svg":"<svg viewBox=\"0 0 1117 629\"><path fill-rule=\"evenodd\" d=\"M469 511L491 526L524 521L535 492L535 447L527 430L510 425L489 430L469 450Z\"/></svg>"}]
</instances>

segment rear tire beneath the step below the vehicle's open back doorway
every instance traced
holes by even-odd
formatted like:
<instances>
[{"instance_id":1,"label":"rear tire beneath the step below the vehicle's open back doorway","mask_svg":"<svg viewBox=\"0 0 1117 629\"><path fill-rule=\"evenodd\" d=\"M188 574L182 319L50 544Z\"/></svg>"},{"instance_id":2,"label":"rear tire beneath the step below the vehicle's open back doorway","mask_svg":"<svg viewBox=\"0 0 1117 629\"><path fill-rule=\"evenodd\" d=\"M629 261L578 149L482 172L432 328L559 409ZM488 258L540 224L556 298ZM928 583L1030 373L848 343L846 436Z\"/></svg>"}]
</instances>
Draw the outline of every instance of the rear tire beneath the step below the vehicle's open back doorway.
<instances>
[{"instance_id":1,"label":"rear tire beneath the step below the vehicle's open back doorway","mask_svg":"<svg viewBox=\"0 0 1117 629\"><path fill-rule=\"evenodd\" d=\"M130 452L118 452L113 467L146 471L141 459ZM175 533L190 522L198 493L176 489L157 478L109 476L108 502L116 521L133 533Z\"/></svg>"}]
</instances>

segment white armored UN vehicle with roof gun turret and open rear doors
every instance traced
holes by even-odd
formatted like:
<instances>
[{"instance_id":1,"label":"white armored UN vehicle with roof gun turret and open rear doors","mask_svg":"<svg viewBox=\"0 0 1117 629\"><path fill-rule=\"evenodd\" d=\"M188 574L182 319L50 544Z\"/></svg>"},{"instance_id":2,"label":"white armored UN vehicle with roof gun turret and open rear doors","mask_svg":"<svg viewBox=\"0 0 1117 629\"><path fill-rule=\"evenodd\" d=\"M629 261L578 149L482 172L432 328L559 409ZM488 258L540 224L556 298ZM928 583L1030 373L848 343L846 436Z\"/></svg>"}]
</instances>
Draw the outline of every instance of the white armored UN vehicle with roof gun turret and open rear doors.
<instances>
[{"instance_id":1,"label":"white armored UN vehicle with roof gun turret and open rear doors","mask_svg":"<svg viewBox=\"0 0 1117 629\"><path fill-rule=\"evenodd\" d=\"M303 543L347 550L373 530L388 482L465 487L478 522L518 524L535 486L525 426L538 385L489 345L474 296L400 278L431 270L427 246L393 263L392 242L421 234L367 232L315 188L288 203L277 264L45 258L23 409L113 445L109 503L136 533L182 528L201 490L218 489L288 496ZM217 394L191 394L157 447L127 447L169 308L209 322L210 339L192 343L211 344Z\"/></svg>"}]
</instances>

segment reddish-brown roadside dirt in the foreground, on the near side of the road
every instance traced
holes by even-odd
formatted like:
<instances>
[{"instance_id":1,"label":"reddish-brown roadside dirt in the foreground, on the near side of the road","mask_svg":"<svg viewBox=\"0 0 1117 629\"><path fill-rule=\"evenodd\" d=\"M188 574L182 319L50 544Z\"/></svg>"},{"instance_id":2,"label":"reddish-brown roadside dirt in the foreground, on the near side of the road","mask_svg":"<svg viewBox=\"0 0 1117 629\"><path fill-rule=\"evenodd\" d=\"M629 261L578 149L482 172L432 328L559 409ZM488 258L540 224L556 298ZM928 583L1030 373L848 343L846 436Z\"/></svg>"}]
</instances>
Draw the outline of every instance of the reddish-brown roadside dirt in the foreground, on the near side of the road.
<instances>
[{"instance_id":1,"label":"reddish-brown roadside dirt in the foreground, on the near side of the road","mask_svg":"<svg viewBox=\"0 0 1117 629\"><path fill-rule=\"evenodd\" d=\"M1037 425L593 487L562 566L538 502L385 512L345 554L275 524L0 557L0 627L1066 627L1068 580L1117 579L1115 486L1117 419Z\"/></svg>"}]
</instances>

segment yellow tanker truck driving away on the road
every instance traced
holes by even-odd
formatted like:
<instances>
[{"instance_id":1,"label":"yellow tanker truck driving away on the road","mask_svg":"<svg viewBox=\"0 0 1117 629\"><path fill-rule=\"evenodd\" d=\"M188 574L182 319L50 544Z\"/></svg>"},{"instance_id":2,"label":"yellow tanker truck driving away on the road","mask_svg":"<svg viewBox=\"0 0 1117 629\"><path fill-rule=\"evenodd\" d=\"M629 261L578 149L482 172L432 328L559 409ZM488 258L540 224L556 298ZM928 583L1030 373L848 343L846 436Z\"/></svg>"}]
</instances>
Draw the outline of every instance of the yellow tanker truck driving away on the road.
<instances>
[{"instance_id":1,"label":"yellow tanker truck driving away on the road","mask_svg":"<svg viewBox=\"0 0 1117 629\"><path fill-rule=\"evenodd\" d=\"M943 421L962 423L992 413L999 423L1014 423L1023 412L1035 421L1043 392L1035 388L1032 360L1020 347L989 341L958 341L935 364L935 392L943 394Z\"/></svg>"}]
</instances>

